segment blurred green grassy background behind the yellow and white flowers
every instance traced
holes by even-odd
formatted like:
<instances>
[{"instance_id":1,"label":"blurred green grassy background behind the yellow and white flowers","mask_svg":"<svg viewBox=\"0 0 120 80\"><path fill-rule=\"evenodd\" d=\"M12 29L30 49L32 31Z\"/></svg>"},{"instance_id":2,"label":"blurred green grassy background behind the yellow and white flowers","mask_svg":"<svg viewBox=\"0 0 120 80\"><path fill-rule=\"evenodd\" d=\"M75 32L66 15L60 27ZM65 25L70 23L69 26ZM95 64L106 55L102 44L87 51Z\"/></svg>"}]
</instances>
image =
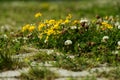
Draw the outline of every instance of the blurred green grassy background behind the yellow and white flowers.
<instances>
[{"instance_id":1,"label":"blurred green grassy background behind the yellow and white flowers","mask_svg":"<svg viewBox=\"0 0 120 80\"><path fill-rule=\"evenodd\" d=\"M120 16L120 0L0 0L0 27L20 29L40 19L60 19L71 13L73 19Z\"/></svg>"}]
</instances>

